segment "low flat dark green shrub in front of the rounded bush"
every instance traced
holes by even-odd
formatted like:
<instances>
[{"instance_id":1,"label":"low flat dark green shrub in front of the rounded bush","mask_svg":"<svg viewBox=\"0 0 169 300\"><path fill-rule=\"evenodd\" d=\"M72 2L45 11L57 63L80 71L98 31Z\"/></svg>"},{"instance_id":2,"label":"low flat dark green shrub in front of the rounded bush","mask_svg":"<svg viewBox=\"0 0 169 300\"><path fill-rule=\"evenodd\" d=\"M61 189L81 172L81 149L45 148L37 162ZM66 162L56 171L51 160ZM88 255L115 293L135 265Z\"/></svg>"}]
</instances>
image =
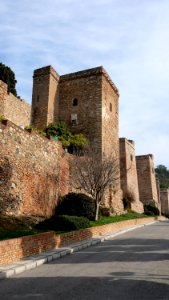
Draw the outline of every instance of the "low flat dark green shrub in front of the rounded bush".
<instances>
[{"instance_id":1,"label":"low flat dark green shrub in front of the rounded bush","mask_svg":"<svg viewBox=\"0 0 169 300\"><path fill-rule=\"evenodd\" d=\"M87 218L77 216L53 216L36 225L37 229L54 231L71 231L90 227Z\"/></svg>"}]
</instances>

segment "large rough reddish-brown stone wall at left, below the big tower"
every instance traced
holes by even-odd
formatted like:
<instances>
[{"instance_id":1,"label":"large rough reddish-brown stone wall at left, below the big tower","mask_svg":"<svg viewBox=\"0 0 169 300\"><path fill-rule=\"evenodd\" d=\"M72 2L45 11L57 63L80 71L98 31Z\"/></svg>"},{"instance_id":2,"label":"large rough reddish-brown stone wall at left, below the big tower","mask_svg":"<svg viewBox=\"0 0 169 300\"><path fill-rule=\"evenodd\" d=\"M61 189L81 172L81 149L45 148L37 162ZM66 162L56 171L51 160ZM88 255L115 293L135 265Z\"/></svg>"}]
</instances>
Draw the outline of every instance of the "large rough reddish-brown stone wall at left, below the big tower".
<instances>
[{"instance_id":1,"label":"large rough reddish-brown stone wall at left, below the big tower","mask_svg":"<svg viewBox=\"0 0 169 300\"><path fill-rule=\"evenodd\" d=\"M69 190L68 156L59 142L0 122L0 211L52 215Z\"/></svg>"}]
</instances>

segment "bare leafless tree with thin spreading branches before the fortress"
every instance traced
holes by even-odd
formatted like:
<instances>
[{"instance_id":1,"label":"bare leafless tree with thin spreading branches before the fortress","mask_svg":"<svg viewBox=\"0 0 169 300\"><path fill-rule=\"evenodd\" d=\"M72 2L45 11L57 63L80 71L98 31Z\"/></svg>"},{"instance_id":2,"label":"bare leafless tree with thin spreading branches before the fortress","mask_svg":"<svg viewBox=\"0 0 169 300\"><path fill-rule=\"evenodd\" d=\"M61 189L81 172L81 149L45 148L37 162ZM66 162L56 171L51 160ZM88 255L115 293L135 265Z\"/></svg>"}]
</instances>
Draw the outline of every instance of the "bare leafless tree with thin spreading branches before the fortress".
<instances>
[{"instance_id":1,"label":"bare leafless tree with thin spreading branches before the fortress","mask_svg":"<svg viewBox=\"0 0 169 300\"><path fill-rule=\"evenodd\" d=\"M73 159L73 181L75 188L83 190L96 202L95 220L98 220L99 207L106 191L120 177L119 161L114 157L101 160L93 150L87 156L76 155Z\"/></svg>"}]
</instances>

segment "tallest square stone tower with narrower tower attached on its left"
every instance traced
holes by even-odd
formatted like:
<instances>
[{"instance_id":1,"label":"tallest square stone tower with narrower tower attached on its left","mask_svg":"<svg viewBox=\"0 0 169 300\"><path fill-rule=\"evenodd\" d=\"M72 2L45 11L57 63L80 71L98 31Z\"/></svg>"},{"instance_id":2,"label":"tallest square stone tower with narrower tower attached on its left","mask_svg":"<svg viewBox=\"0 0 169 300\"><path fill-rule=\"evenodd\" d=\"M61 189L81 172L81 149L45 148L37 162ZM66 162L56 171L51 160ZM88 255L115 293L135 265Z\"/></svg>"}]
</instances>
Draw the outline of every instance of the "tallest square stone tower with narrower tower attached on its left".
<instances>
[{"instance_id":1,"label":"tallest square stone tower with narrower tower attached on its left","mask_svg":"<svg viewBox=\"0 0 169 300\"><path fill-rule=\"evenodd\" d=\"M83 133L97 159L119 163L119 92L103 67L60 76L51 66L34 71L31 122L45 128L64 121L73 133ZM119 170L120 177L120 170ZM106 193L106 205L123 211L120 180Z\"/></svg>"}]
</instances>

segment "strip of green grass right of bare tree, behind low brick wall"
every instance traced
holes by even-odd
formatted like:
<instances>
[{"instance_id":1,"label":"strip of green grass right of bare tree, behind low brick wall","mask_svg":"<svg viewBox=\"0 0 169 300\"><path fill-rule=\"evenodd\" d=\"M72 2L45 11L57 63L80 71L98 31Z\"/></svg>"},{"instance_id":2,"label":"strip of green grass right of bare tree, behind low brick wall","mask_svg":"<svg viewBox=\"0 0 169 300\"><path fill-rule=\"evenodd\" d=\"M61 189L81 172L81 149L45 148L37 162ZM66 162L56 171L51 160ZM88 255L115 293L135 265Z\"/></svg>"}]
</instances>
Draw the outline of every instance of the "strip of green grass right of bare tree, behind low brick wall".
<instances>
[{"instance_id":1,"label":"strip of green grass right of bare tree, behind low brick wall","mask_svg":"<svg viewBox=\"0 0 169 300\"><path fill-rule=\"evenodd\" d=\"M145 218L145 217L148 216L134 212L134 213L128 213L128 214L114 216L114 217L101 217L98 221L90 221L90 225L91 227L94 227L99 225L106 225L110 223L138 219L138 218Z\"/></svg>"}]
</instances>

